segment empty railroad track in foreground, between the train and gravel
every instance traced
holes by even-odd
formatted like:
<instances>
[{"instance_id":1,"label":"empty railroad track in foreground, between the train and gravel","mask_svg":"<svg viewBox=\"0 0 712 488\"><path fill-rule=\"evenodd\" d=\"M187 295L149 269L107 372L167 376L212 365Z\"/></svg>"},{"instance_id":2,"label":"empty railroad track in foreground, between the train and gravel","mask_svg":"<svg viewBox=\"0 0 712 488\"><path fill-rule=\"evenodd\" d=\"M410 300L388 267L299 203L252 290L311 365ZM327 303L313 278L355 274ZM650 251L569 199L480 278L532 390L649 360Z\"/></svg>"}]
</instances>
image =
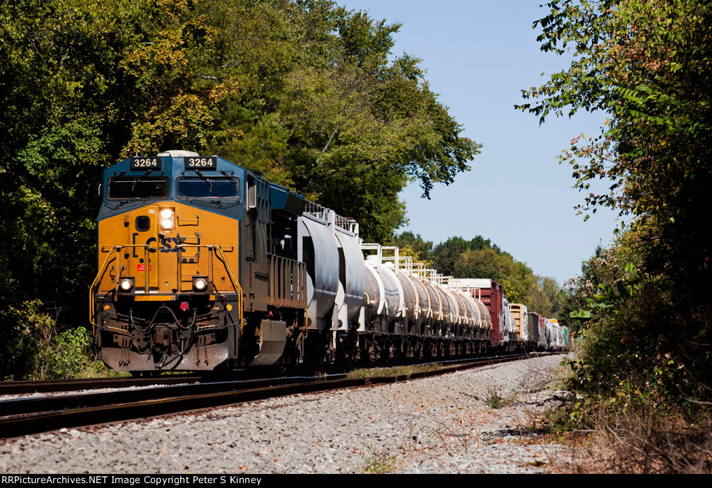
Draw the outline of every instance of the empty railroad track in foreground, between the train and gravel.
<instances>
[{"instance_id":1,"label":"empty railroad track in foreground, between the train and gravel","mask_svg":"<svg viewBox=\"0 0 712 488\"><path fill-rule=\"evenodd\" d=\"M547 354L547 353L545 353ZM304 377L209 381L140 390L79 393L0 401L0 438L46 433L61 428L79 428L127 420L144 420L249 401L357 388L452 373L469 368L515 361L526 354L473 359L442 368L399 376L321 379ZM130 378L127 378L130 379ZM144 379L144 378L141 378ZM156 378L145 378L153 379ZM155 384L155 383L152 383ZM115 386L115 385L114 385Z\"/></svg>"}]
</instances>

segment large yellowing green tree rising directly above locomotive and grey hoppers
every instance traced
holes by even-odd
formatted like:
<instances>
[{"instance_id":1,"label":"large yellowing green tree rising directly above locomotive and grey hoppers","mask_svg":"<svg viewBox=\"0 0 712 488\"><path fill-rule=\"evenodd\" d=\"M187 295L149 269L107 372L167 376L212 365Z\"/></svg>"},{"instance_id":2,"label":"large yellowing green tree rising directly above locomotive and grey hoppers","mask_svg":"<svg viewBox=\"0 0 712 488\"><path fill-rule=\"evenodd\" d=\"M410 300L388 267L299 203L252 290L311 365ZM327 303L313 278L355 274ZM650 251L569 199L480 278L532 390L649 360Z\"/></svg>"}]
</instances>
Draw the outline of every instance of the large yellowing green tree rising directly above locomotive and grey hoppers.
<instances>
[{"instance_id":1,"label":"large yellowing green tree rising directly above locomotive and grey hoppers","mask_svg":"<svg viewBox=\"0 0 712 488\"><path fill-rule=\"evenodd\" d=\"M325 0L162 0L153 10L125 60L143 103L124 155L220 152L383 241L404 222L408 181L429 196L479 152L419 60L389 63L399 24Z\"/></svg>"}]
</instances>

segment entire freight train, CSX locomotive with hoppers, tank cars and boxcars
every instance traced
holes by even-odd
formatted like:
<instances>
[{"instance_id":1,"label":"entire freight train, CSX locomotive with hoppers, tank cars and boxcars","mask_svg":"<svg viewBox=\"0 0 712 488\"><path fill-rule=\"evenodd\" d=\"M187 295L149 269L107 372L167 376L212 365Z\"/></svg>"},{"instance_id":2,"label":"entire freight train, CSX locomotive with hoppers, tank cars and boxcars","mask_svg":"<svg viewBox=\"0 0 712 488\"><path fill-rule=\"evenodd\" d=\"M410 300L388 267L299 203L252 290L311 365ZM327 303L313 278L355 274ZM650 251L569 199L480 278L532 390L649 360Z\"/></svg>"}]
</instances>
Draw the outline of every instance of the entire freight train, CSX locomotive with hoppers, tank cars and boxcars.
<instances>
[{"instance_id":1,"label":"entire freight train, CSX locomotive with hoppers, tank cars and boxcars","mask_svg":"<svg viewBox=\"0 0 712 488\"><path fill-rule=\"evenodd\" d=\"M219 156L104 171L90 321L119 371L368 364L557 350L565 327L455 280ZM366 258L364 259L364 256Z\"/></svg>"}]
</instances>

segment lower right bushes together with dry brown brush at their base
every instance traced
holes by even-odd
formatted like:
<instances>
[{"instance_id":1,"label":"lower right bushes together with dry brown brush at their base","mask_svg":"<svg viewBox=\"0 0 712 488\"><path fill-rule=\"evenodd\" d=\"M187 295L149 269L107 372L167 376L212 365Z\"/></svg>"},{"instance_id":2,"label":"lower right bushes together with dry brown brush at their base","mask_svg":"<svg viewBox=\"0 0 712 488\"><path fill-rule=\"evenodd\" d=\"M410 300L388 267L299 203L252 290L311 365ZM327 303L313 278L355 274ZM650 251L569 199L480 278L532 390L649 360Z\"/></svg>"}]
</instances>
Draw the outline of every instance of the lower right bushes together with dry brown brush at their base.
<instances>
[{"instance_id":1,"label":"lower right bushes together with dry brown brush at their base","mask_svg":"<svg viewBox=\"0 0 712 488\"><path fill-rule=\"evenodd\" d=\"M634 228L597 250L571 284L577 400L555 428L585 433L576 470L711 472L708 314L680 306L680 287L650 272L639 242Z\"/></svg>"}]
</instances>

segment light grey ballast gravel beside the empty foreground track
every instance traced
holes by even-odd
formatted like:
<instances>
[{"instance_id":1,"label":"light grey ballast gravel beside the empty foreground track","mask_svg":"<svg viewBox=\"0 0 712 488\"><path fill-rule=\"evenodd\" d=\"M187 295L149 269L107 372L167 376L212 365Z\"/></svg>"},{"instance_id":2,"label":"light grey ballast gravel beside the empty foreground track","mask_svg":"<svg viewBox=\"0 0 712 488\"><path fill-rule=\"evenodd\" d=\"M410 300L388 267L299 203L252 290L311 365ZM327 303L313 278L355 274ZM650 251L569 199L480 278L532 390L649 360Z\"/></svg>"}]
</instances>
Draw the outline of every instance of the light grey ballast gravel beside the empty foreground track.
<instances>
[{"instance_id":1,"label":"light grey ballast gravel beside the empty foreground track","mask_svg":"<svg viewBox=\"0 0 712 488\"><path fill-rule=\"evenodd\" d=\"M558 403L561 359L23 437L0 472L552 472L566 450L532 426Z\"/></svg>"}]
</instances>

